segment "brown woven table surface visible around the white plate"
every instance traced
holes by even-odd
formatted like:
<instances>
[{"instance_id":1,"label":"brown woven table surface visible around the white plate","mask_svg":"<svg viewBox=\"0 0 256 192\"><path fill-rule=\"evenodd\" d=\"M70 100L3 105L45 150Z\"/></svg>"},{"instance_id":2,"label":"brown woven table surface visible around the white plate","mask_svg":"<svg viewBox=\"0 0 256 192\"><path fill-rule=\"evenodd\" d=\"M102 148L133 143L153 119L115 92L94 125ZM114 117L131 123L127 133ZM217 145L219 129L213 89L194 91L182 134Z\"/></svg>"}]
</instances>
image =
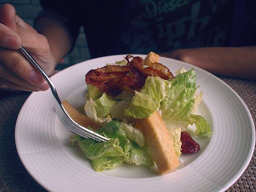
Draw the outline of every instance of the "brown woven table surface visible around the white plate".
<instances>
[{"instance_id":1,"label":"brown woven table surface visible around the white plate","mask_svg":"<svg viewBox=\"0 0 256 192\"><path fill-rule=\"evenodd\" d=\"M256 81L220 78L244 100L256 122ZM23 167L15 147L15 123L30 93L0 89L0 192L44 192ZM243 175L230 191L256 192L256 150Z\"/></svg>"}]
</instances>

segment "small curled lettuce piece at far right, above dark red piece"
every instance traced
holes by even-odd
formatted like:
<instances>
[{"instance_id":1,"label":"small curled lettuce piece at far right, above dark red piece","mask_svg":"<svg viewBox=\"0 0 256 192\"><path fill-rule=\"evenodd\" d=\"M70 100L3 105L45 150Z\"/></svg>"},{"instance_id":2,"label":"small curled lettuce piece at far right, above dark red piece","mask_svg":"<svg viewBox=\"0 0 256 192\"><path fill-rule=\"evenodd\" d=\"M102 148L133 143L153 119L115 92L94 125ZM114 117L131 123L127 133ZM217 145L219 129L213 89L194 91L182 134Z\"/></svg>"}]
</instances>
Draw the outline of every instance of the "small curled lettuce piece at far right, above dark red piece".
<instances>
[{"instance_id":1,"label":"small curled lettuce piece at far right, above dark red piece","mask_svg":"<svg viewBox=\"0 0 256 192\"><path fill-rule=\"evenodd\" d=\"M189 119L186 122L186 127L188 125L194 125L194 124L195 124L195 135L197 136L207 135L209 137L212 134L210 125L207 122L207 120L204 119L204 117L200 115L191 114L189 116Z\"/></svg>"}]
</instances>

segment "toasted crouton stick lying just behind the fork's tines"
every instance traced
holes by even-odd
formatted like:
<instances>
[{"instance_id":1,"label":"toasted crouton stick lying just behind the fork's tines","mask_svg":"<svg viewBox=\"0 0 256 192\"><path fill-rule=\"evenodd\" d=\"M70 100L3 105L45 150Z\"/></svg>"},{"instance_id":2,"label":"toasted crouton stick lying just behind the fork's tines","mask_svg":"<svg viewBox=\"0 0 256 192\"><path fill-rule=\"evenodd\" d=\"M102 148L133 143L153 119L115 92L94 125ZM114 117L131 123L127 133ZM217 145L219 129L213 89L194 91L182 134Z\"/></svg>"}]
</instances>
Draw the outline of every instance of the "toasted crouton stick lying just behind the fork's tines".
<instances>
[{"instance_id":1,"label":"toasted crouton stick lying just behind the fork's tines","mask_svg":"<svg viewBox=\"0 0 256 192\"><path fill-rule=\"evenodd\" d=\"M69 102L64 101L62 102L62 105L69 114L69 116L79 125L82 125L85 128L90 126L93 130L98 130L99 128L101 128L99 125L94 124L94 122L92 122L87 116L83 115L78 110L73 108L73 106L70 105Z\"/></svg>"}]
</instances>

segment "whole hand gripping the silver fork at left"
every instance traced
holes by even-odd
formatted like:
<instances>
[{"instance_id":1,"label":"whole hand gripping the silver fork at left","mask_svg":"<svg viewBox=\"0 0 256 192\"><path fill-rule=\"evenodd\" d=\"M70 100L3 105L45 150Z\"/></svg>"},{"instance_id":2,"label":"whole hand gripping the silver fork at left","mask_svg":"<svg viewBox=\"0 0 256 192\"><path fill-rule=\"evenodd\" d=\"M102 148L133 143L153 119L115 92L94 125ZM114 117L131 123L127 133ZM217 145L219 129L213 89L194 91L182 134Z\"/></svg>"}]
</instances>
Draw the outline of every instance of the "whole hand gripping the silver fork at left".
<instances>
[{"instance_id":1,"label":"whole hand gripping the silver fork at left","mask_svg":"<svg viewBox=\"0 0 256 192\"><path fill-rule=\"evenodd\" d=\"M17 52L22 45L51 75L57 61L47 38L17 16L10 4L1 7L0 22L0 85L26 91L47 90L47 82Z\"/></svg>"}]
</instances>

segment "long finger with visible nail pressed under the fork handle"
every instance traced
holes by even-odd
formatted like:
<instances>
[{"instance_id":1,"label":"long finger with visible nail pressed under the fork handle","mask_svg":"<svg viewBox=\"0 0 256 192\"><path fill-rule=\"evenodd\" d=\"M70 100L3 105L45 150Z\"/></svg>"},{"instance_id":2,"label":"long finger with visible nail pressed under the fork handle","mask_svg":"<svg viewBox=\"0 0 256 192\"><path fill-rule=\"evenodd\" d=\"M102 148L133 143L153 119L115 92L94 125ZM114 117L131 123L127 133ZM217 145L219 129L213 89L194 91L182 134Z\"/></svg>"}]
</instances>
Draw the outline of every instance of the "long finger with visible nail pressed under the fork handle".
<instances>
[{"instance_id":1,"label":"long finger with visible nail pressed under the fork handle","mask_svg":"<svg viewBox=\"0 0 256 192\"><path fill-rule=\"evenodd\" d=\"M0 61L12 72L16 73L17 76L21 77L30 84L44 90L48 89L48 84L44 78L17 51L0 48Z\"/></svg>"}]
</instances>

